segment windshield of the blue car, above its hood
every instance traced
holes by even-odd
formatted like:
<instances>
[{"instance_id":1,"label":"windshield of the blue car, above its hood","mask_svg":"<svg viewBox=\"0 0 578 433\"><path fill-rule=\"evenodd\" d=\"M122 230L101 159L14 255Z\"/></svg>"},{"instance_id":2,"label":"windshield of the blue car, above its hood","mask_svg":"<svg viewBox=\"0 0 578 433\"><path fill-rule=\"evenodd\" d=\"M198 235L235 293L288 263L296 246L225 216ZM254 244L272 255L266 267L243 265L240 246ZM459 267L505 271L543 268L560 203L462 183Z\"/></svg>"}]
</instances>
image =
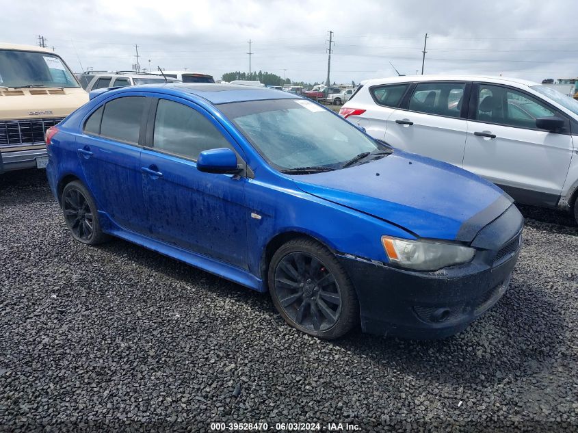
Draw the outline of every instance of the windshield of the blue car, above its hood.
<instances>
[{"instance_id":1,"label":"windshield of the blue car, above its hood","mask_svg":"<svg viewBox=\"0 0 578 433\"><path fill-rule=\"evenodd\" d=\"M228 103L219 109L280 171L338 170L370 154L391 153L350 122L304 99Z\"/></svg>"}]
</instances>

